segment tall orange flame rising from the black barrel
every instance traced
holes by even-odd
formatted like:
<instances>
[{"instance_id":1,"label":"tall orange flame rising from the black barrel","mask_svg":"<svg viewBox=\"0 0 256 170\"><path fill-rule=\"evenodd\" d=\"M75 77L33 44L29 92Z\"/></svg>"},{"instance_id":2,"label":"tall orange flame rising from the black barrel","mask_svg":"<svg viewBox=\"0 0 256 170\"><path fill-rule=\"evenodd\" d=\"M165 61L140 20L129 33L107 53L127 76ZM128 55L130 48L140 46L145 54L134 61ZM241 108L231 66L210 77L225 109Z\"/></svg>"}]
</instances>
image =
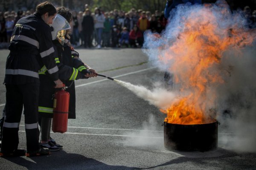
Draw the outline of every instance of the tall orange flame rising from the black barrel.
<instances>
[{"instance_id":1,"label":"tall orange flame rising from the black barrel","mask_svg":"<svg viewBox=\"0 0 256 170\"><path fill-rule=\"evenodd\" d=\"M227 8L220 8L218 15L221 17L216 17L211 5L196 12L192 10L181 18L183 27L179 27L176 40L158 56L159 60L172 61L169 72L174 74L181 93L177 102L160 109L167 114L165 122L183 125L215 122L216 113L210 111L216 99L212 89L224 83L223 71L218 69L223 52L250 45L255 38L255 30L245 30L238 24L221 25L232 15Z\"/></svg>"}]
</instances>

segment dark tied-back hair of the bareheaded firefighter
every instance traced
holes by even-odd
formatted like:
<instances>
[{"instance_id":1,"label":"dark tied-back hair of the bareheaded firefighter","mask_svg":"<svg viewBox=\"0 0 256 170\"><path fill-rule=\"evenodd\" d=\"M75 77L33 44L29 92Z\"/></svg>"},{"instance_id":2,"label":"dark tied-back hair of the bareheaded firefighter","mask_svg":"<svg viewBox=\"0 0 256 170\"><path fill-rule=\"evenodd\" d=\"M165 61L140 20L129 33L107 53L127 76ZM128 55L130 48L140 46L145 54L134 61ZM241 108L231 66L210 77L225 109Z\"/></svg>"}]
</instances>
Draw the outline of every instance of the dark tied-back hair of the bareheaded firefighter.
<instances>
[{"instance_id":1,"label":"dark tied-back hair of the bareheaded firefighter","mask_svg":"<svg viewBox=\"0 0 256 170\"><path fill-rule=\"evenodd\" d=\"M35 8L36 14L43 15L47 12L49 13L49 16L57 13L56 8L48 1L38 4Z\"/></svg>"}]
</instances>

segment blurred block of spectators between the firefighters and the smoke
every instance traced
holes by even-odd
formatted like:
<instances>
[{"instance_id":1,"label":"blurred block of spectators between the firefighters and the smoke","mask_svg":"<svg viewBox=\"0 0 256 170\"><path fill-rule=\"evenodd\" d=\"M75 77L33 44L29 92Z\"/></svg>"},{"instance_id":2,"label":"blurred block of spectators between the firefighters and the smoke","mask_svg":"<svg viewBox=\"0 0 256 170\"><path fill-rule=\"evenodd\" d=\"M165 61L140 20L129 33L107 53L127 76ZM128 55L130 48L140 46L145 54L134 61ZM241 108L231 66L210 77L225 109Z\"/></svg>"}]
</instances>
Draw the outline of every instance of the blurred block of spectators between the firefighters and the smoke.
<instances>
[{"instance_id":1,"label":"blurred block of spectators between the firefighters and the smoke","mask_svg":"<svg viewBox=\"0 0 256 170\"><path fill-rule=\"evenodd\" d=\"M151 14L134 8L128 12L85 8L84 12L73 13L71 43L84 48L141 47L145 30L160 33L166 23L163 12L159 11Z\"/></svg>"}]
</instances>

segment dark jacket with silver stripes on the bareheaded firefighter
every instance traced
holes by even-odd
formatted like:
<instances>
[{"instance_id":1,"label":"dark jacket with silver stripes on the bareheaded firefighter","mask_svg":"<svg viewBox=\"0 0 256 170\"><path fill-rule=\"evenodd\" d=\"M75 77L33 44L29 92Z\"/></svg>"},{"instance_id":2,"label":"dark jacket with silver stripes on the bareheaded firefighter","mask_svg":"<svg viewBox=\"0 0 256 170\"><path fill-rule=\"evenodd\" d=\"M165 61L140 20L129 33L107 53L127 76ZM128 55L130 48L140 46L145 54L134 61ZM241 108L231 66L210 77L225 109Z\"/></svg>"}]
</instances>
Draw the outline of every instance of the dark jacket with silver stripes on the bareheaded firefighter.
<instances>
[{"instance_id":1,"label":"dark jacket with silver stripes on the bareheaded firefighter","mask_svg":"<svg viewBox=\"0 0 256 170\"><path fill-rule=\"evenodd\" d=\"M6 61L6 84L39 83L38 71L45 65L51 81L58 80L51 28L38 14L21 18L12 32Z\"/></svg>"}]
</instances>

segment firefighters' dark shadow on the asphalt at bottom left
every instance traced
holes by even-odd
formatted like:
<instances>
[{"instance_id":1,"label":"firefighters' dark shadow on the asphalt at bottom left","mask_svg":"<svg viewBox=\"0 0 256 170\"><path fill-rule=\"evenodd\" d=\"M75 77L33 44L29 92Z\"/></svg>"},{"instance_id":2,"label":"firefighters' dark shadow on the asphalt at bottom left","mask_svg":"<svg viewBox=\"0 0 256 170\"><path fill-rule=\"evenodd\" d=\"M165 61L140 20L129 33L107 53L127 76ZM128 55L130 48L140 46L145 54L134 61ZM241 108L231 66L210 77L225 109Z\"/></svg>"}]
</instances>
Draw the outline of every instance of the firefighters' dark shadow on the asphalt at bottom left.
<instances>
[{"instance_id":1,"label":"firefighters' dark shadow on the asphalt at bottom left","mask_svg":"<svg viewBox=\"0 0 256 170\"><path fill-rule=\"evenodd\" d=\"M137 167L108 165L80 154L60 150L49 156L4 158L28 170L140 170ZM8 167L6 167L8 168Z\"/></svg>"}]
</instances>

